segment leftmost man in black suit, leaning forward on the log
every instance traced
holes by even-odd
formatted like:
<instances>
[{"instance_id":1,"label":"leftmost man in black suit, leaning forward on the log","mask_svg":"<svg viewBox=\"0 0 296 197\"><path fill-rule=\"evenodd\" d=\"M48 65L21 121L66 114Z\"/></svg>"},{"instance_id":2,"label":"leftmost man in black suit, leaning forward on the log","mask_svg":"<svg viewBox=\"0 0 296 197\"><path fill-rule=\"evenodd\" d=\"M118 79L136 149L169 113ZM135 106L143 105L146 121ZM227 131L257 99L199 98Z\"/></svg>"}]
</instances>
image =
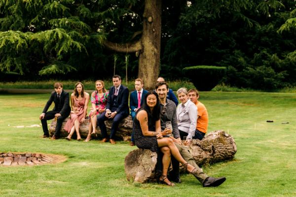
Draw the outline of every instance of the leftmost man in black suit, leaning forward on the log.
<instances>
[{"instance_id":1,"label":"leftmost man in black suit, leaning forward on the log","mask_svg":"<svg viewBox=\"0 0 296 197\"><path fill-rule=\"evenodd\" d=\"M52 139L58 139L60 137L60 130L63 121L69 116L71 107L69 105L69 93L63 90L62 83L55 83L54 90L51 93L49 100L47 101L39 119L41 120L43 137L49 137L49 132L47 128L47 120L51 120L56 117L57 125L55 128L54 135ZM54 102L54 108L52 111L47 111L51 103Z\"/></svg>"}]
</instances>

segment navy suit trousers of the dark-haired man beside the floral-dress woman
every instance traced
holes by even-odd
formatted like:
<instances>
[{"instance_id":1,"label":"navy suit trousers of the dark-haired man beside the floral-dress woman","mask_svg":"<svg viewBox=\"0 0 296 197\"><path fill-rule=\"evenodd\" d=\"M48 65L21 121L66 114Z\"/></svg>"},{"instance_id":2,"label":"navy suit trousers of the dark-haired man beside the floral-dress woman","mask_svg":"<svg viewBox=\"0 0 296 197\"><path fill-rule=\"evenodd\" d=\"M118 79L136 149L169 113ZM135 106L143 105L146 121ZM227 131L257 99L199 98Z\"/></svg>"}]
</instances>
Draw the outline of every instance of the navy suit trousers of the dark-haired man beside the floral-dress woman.
<instances>
[{"instance_id":1,"label":"navy suit trousers of the dark-haired man beside the floral-dress woman","mask_svg":"<svg viewBox=\"0 0 296 197\"><path fill-rule=\"evenodd\" d=\"M98 121L97 121L97 124L99 125L100 127L100 130L101 130L101 133L102 133L102 137L103 138L108 138L107 137L107 128L106 128L106 125L105 125L105 120L113 120L112 122L112 126L111 126L111 133L110 133L110 139L114 139L115 138L115 134L116 134L116 131L118 129L118 125L120 123L120 121L122 119L124 119L125 117L127 117L128 115L126 114L122 114L122 113L118 113L115 115L115 117L113 119L109 119L105 116L106 114L106 111L103 112L99 117L98 117Z\"/></svg>"}]
</instances>

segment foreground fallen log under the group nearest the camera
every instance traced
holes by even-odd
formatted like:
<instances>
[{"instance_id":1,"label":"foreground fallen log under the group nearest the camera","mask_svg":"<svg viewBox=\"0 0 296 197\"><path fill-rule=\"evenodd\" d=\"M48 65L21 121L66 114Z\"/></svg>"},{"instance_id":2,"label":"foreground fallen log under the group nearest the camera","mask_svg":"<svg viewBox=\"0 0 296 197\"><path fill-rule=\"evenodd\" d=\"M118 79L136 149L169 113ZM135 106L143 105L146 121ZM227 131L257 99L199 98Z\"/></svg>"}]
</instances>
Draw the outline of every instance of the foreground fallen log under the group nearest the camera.
<instances>
[{"instance_id":1,"label":"foreground fallen log under the group nearest the camera","mask_svg":"<svg viewBox=\"0 0 296 197\"><path fill-rule=\"evenodd\" d=\"M189 150L198 165L213 164L233 159L236 144L233 137L224 131L213 131L202 140L194 140ZM155 182L157 154L145 149L136 149L125 157L124 169L127 180L140 183Z\"/></svg>"}]
</instances>

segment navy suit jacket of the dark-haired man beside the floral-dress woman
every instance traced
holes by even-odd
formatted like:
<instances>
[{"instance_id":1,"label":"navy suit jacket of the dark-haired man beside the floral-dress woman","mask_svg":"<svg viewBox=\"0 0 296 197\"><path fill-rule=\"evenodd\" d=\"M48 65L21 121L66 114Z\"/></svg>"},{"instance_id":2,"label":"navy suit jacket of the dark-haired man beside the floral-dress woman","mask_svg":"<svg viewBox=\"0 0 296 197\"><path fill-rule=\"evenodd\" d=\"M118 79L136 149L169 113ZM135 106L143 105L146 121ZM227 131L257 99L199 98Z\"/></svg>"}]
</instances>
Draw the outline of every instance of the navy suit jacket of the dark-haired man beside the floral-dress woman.
<instances>
[{"instance_id":1,"label":"navy suit jacket of the dark-haired man beside the floral-dress woman","mask_svg":"<svg viewBox=\"0 0 296 197\"><path fill-rule=\"evenodd\" d=\"M110 109L110 110L112 109L113 100L114 100L114 93L115 93L115 87L112 86L109 90L109 96L108 96L106 109ZM121 84L118 94L117 94L118 107L115 110L117 113L123 113L125 115L129 114L128 93L129 93L128 88Z\"/></svg>"}]
</instances>

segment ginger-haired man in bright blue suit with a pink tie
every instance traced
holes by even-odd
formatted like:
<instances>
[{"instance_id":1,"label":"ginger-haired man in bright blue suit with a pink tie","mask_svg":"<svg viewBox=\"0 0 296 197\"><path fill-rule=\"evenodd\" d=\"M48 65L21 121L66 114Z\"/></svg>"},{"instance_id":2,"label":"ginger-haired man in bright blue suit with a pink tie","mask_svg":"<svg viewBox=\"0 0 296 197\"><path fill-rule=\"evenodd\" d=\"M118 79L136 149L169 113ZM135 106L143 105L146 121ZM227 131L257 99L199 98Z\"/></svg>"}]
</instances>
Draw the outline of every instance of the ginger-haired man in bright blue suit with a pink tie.
<instances>
[{"instance_id":1,"label":"ginger-haired man in bright blue suit with a pink tie","mask_svg":"<svg viewBox=\"0 0 296 197\"><path fill-rule=\"evenodd\" d=\"M147 90L143 89L144 83L143 80L138 78L135 79L135 91L131 92L130 94L130 108L131 108L131 116L134 121L136 112L140 108L140 106L143 104L144 97L148 93ZM135 139L134 139L134 132L132 132L131 137L131 146L135 145Z\"/></svg>"}]
</instances>

